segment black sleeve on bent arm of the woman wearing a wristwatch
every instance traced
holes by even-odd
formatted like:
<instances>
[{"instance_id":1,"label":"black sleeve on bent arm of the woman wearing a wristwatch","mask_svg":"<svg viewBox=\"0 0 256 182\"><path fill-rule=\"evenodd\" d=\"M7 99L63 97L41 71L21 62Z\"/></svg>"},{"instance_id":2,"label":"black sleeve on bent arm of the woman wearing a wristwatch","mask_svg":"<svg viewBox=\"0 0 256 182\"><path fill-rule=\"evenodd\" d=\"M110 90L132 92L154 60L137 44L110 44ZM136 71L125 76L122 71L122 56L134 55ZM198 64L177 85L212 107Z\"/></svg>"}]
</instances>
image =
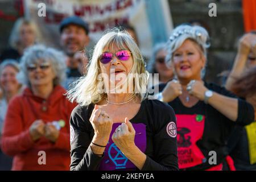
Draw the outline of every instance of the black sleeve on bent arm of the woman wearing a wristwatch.
<instances>
[{"instance_id":1,"label":"black sleeve on bent arm of the woman wearing a wristwatch","mask_svg":"<svg viewBox=\"0 0 256 182\"><path fill-rule=\"evenodd\" d=\"M242 100L241 98L238 98L235 94L229 92L224 87L210 84L209 89L212 89L214 92L217 92L227 97L237 98L238 117L235 123L241 126L245 126L249 125L251 122L254 121L254 108L250 103L246 102L245 100Z\"/></svg>"}]
</instances>

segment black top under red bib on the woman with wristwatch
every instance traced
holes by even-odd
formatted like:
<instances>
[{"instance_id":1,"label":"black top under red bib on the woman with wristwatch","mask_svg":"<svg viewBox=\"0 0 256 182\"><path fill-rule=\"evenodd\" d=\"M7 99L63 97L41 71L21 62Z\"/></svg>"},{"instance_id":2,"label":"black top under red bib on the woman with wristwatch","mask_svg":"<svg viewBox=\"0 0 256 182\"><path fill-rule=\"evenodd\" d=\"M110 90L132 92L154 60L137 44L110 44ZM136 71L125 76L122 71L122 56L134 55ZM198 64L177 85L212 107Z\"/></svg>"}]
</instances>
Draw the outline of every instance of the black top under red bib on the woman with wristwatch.
<instances>
[{"instance_id":1,"label":"black top under red bib on the woman with wristwatch","mask_svg":"<svg viewBox=\"0 0 256 182\"><path fill-rule=\"evenodd\" d=\"M158 86L159 92L162 92L166 84L160 84ZM205 82L205 87L224 96L237 98L236 95L228 92L221 86ZM200 114L205 116L203 137L198 140L196 144L197 147L200 148L206 160L204 160L203 164L187 168L187 170L204 170L213 167L208 163L208 159L210 158L209 151L216 151L217 164L224 162L225 157L229 154L227 146L228 139L230 134L236 130L236 125L245 126L254 121L253 106L240 98L237 99L238 117L235 122L226 118L225 115L220 113L220 111L214 109L209 104L205 104L203 101L197 102L197 104L192 107L185 107L181 103L179 97L177 97L175 100L168 103L175 110L175 114ZM177 121L177 127L179 128L179 120Z\"/></svg>"}]
</instances>

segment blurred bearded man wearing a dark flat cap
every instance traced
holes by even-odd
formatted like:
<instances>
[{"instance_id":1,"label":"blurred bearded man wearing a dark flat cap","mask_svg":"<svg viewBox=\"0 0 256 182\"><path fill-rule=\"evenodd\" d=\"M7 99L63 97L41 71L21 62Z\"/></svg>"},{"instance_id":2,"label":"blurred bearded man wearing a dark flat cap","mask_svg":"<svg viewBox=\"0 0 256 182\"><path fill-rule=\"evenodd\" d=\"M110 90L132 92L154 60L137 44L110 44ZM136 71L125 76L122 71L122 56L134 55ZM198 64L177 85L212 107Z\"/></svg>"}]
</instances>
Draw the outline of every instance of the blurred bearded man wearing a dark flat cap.
<instances>
[{"instance_id":1,"label":"blurred bearded man wearing a dark flat cap","mask_svg":"<svg viewBox=\"0 0 256 182\"><path fill-rule=\"evenodd\" d=\"M60 44L67 55L67 81L68 89L73 81L86 72L88 58L85 47L90 43L89 25L79 16L69 16L60 23Z\"/></svg>"}]
</instances>

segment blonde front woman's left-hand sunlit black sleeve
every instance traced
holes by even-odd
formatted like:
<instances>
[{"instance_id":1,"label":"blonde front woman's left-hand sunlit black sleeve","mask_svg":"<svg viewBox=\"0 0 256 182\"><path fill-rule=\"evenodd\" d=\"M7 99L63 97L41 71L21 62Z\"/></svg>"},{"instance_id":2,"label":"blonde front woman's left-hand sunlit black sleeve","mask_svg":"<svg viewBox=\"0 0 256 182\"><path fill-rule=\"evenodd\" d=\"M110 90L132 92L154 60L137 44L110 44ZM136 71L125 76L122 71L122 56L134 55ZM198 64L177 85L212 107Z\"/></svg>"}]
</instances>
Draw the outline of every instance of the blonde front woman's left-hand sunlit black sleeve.
<instances>
[{"instance_id":1,"label":"blonde front woman's left-hand sunlit black sleeve","mask_svg":"<svg viewBox=\"0 0 256 182\"><path fill-rule=\"evenodd\" d=\"M103 156L93 154L90 148L92 141L92 127L88 117L88 110L82 111L81 106L75 107L70 119L71 127L71 165L73 171L97 170Z\"/></svg>"}]
</instances>

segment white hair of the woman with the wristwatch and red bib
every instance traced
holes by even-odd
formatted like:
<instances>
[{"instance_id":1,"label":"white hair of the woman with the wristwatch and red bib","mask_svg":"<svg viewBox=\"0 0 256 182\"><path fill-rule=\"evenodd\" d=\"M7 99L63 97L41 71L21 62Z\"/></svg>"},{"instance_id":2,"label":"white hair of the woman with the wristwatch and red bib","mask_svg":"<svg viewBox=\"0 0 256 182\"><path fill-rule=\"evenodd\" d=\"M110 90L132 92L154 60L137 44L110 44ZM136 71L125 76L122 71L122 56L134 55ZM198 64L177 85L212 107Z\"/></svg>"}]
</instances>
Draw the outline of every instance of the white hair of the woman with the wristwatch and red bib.
<instances>
[{"instance_id":1,"label":"white hair of the woman with the wristwatch and red bib","mask_svg":"<svg viewBox=\"0 0 256 182\"><path fill-rule=\"evenodd\" d=\"M193 40L201 48L201 52L207 58L207 48L210 47L209 34L205 28L200 26L189 26L181 24L177 26L172 32L167 42L167 56L166 62L173 60L173 54L177 48L179 48L185 40ZM205 75L205 68L201 70L201 77Z\"/></svg>"}]
</instances>

